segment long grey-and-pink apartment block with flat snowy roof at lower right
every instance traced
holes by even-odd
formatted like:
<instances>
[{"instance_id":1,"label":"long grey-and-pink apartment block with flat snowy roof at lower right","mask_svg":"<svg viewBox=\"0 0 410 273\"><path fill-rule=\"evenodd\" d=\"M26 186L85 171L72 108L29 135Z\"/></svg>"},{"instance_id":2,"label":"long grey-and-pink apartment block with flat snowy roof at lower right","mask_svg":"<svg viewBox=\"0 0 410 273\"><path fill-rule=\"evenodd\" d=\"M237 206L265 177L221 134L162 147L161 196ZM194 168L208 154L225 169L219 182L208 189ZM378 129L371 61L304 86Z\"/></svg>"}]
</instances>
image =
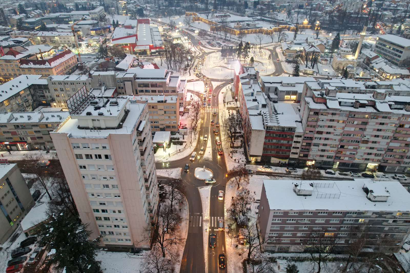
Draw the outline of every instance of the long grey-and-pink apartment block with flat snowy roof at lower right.
<instances>
[{"instance_id":1,"label":"long grey-and-pink apartment block with flat snowy roof at lower right","mask_svg":"<svg viewBox=\"0 0 410 273\"><path fill-rule=\"evenodd\" d=\"M356 238L395 253L410 234L410 193L398 181L264 180L258 216L266 250L302 252L316 236L336 253Z\"/></svg>"}]
</instances>

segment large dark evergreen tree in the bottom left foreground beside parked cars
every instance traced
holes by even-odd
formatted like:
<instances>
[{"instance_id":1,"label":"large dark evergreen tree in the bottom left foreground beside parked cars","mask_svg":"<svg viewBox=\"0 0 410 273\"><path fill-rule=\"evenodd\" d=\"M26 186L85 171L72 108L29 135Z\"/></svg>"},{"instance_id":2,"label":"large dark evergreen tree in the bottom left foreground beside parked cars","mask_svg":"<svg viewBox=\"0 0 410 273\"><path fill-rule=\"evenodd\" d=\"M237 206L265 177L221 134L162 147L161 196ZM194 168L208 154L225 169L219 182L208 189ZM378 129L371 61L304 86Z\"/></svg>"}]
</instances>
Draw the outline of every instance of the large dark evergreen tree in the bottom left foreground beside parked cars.
<instances>
[{"instance_id":1,"label":"large dark evergreen tree in the bottom left foreground beside parked cars","mask_svg":"<svg viewBox=\"0 0 410 273\"><path fill-rule=\"evenodd\" d=\"M101 262L96 261L100 237L89 241L92 232L87 230L88 224L80 223L78 218L66 212L50 212L49 216L51 221L41 225L38 237L48 253L55 252L50 256L50 264L73 273L101 272Z\"/></svg>"}]
</instances>

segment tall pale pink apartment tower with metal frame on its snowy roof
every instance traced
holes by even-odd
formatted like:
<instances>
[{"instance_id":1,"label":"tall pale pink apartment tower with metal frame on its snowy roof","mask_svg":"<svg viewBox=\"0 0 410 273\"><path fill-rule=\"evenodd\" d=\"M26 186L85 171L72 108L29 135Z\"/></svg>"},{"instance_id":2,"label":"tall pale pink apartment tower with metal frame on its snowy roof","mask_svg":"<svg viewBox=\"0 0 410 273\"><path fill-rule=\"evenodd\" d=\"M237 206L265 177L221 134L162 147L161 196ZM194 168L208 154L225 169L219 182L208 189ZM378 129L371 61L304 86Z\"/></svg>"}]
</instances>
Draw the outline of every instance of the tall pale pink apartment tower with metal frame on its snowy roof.
<instances>
[{"instance_id":1,"label":"tall pale pink apartment tower with metal frame on its snowy roof","mask_svg":"<svg viewBox=\"0 0 410 273\"><path fill-rule=\"evenodd\" d=\"M149 249L145 230L156 221L159 195L148 104L84 87L68 108L51 138L90 239L103 234L104 248Z\"/></svg>"}]
</instances>

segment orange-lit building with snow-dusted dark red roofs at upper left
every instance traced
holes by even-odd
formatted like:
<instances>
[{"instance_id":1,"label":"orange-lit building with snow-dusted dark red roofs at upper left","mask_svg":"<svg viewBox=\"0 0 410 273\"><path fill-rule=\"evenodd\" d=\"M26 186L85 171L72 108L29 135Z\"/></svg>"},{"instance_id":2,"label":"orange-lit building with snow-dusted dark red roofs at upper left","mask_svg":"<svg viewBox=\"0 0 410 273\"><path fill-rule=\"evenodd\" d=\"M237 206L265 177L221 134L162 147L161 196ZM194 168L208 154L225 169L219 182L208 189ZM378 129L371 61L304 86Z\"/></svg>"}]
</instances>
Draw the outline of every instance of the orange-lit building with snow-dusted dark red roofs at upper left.
<instances>
[{"instance_id":1,"label":"orange-lit building with snow-dusted dark red roofs at upper left","mask_svg":"<svg viewBox=\"0 0 410 273\"><path fill-rule=\"evenodd\" d=\"M0 57L0 77L13 79L18 75L50 75L70 74L77 68L77 57L71 50L65 50L50 59L34 59L33 54L25 54L9 50Z\"/></svg>"}]
</instances>

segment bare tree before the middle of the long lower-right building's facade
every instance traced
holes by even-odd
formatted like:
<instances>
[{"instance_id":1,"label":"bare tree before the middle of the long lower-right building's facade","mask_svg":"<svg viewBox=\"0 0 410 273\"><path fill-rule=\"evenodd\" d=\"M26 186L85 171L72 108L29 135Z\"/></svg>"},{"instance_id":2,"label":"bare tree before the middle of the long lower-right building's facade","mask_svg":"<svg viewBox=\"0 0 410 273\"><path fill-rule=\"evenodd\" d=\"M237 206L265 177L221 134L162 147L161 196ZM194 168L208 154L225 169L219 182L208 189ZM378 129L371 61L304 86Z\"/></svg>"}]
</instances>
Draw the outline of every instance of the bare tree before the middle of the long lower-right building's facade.
<instances>
[{"instance_id":1,"label":"bare tree before the middle of the long lower-right building's facade","mask_svg":"<svg viewBox=\"0 0 410 273\"><path fill-rule=\"evenodd\" d=\"M310 259L314 263L314 268L317 267L316 273L320 273L322 263L329 257L336 248L336 240L334 238L334 232L327 232L320 230L317 232L310 232L306 239L302 239L301 251L304 251L310 256Z\"/></svg>"}]
</instances>

